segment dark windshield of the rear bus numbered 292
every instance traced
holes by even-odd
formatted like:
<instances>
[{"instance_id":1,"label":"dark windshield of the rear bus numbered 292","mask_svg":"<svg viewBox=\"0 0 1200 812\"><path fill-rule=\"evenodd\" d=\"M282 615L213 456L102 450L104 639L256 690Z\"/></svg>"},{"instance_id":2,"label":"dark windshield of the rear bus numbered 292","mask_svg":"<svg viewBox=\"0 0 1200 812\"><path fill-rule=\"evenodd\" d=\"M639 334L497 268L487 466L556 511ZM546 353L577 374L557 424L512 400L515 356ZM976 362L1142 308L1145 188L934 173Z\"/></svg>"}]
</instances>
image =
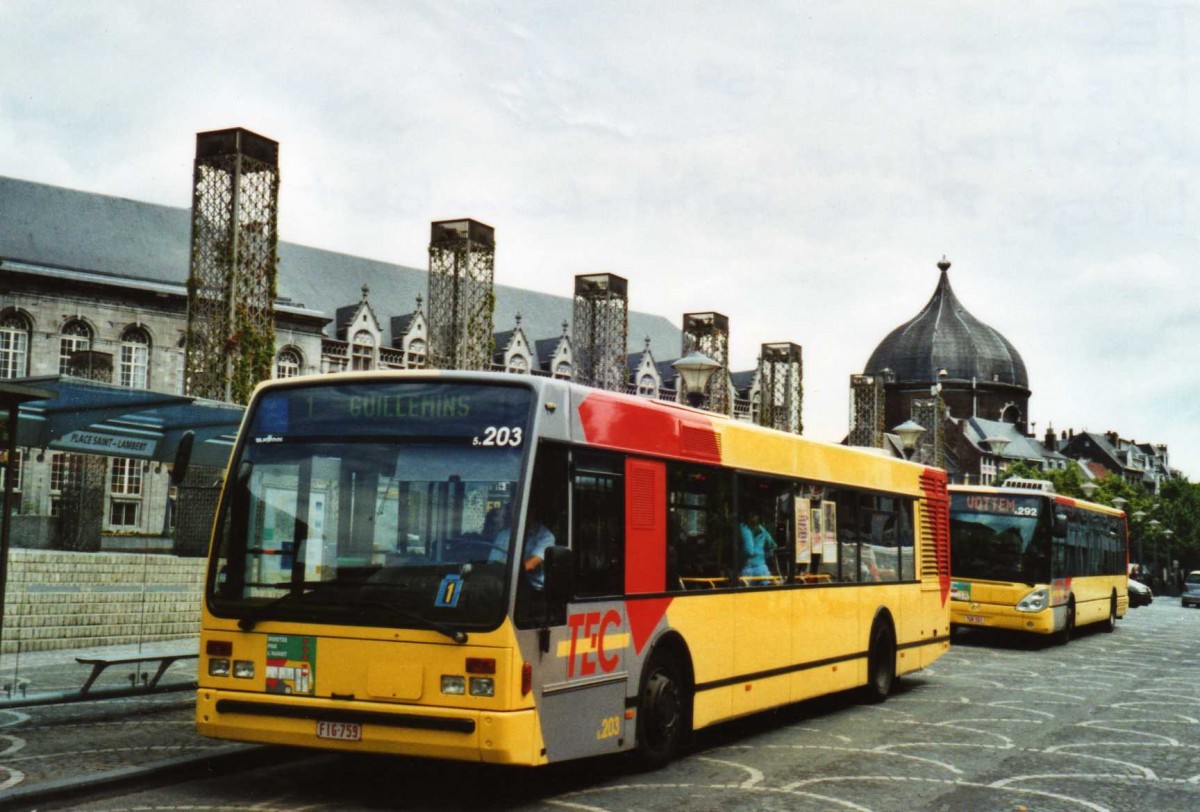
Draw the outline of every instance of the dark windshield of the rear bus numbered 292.
<instances>
[{"instance_id":1,"label":"dark windshield of the rear bus numbered 292","mask_svg":"<svg viewBox=\"0 0 1200 812\"><path fill-rule=\"evenodd\" d=\"M1049 583L1045 505L1033 495L953 493L952 577Z\"/></svg>"}]
</instances>

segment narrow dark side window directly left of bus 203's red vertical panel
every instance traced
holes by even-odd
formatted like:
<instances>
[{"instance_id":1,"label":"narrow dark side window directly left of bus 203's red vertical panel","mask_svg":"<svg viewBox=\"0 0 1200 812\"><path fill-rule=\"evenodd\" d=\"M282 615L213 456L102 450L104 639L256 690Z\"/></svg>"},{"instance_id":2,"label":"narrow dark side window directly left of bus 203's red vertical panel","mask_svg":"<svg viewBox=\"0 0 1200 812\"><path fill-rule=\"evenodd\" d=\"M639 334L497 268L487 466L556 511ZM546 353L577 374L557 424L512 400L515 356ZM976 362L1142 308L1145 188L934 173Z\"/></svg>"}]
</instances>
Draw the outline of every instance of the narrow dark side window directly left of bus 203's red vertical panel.
<instances>
[{"instance_id":1,"label":"narrow dark side window directly left of bus 203's red vertical panel","mask_svg":"<svg viewBox=\"0 0 1200 812\"><path fill-rule=\"evenodd\" d=\"M620 595L625 585L624 458L576 450L571 487L576 594Z\"/></svg>"}]
</instances>

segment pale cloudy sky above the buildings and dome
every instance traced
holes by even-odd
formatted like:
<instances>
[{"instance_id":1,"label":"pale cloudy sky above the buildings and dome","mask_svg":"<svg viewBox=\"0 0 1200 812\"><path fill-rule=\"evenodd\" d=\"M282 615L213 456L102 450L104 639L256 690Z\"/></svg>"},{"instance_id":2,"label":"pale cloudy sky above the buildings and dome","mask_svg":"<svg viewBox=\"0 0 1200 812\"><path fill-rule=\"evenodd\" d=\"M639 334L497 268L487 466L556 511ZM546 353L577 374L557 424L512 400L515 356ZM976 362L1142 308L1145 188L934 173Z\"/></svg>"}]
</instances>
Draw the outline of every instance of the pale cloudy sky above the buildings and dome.
<instances>
[{"instance_id":1,"label":"pale cloudy sky above the buildings and dome","mask_svg":"<svg viewBox=\"0 0 1200 812\"><path fill-rule=\"evenodd\" d=\"M1021 353L1040 435L1200 477L1200 4L0 0L0 175L187 207L197 132L280 142L280 234L804 348L809 437L934 293ZM655 348L672 357L678 348Z\"/></svg>"}]
</instances>

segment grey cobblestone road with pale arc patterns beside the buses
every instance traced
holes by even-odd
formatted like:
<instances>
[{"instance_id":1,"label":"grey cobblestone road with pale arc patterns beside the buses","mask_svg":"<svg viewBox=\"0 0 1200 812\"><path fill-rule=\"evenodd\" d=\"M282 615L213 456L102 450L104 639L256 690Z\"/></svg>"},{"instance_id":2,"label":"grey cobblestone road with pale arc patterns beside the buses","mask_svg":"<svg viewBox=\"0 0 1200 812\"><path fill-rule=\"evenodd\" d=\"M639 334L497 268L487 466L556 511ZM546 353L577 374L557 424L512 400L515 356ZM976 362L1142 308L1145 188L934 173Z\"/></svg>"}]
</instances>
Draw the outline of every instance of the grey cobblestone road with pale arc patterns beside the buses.
<instances>
[{"instance_id":1,"label":"grey cobblestone road with pale arc patterns beside the buses","mask_svg":"<svg viewBox=\"0 0 1200 812\"><path fill-rule=\"evenodd\" d=\"M42 752L74 758L74 728L38 738L43 723L32 712L10 723L4 733L30 744L0 765L31 775ZM175 723L161 712L134 726L158 739ZM1159 600L1067 646L962 633L883 704L839 696L722 726L656 772L623 759L498 770L296 751L295 762L80 806L182 807L1198 810L1200 610Z\"/></svg>"}]
</instances>

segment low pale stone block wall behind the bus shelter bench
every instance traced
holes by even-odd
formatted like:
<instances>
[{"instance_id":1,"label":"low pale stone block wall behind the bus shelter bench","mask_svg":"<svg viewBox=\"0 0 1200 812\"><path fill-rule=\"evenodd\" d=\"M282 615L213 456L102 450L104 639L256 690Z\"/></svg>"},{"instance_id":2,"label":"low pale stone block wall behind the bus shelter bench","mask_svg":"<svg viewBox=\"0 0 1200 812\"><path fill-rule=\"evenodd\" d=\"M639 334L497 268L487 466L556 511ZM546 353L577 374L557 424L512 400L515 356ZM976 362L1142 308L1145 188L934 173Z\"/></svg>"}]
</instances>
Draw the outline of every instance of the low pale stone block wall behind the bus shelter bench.
<instances>
[{"instance_id":1,"label":"low pale stone block wall behind the bus shelter bench","mask_svg":"<svg viewBox=\"0 0 1200 812\"><path fill-rule=\"evenodd\" d=\"M14 548L2 652L193 637L204 565L203 558Z\"/></svg>"}]
</instances>

